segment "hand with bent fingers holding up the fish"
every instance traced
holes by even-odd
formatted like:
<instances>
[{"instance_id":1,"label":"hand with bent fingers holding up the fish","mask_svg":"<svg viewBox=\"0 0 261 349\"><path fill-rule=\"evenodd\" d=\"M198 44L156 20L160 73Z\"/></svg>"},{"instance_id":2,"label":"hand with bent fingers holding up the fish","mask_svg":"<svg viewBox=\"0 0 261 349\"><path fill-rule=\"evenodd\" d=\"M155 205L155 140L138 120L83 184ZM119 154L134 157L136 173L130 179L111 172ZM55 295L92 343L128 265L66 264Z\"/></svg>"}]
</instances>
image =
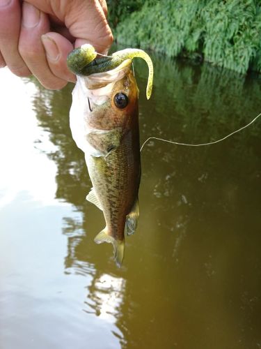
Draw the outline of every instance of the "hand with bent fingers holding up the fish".
<instances>
[{"instance_id":1,"label":"hand with bent fingers holding up the fish","mask_svg":"<svg viewBox=\"0 0 261 349\"><path fill-rule=\"evenodd\" d=\"M102 54L109 49L106 15L105 0L0 0L0 68L62 89L76 81L66 65L70 51L84 43Z\"/></svg>"}]
</instances>

